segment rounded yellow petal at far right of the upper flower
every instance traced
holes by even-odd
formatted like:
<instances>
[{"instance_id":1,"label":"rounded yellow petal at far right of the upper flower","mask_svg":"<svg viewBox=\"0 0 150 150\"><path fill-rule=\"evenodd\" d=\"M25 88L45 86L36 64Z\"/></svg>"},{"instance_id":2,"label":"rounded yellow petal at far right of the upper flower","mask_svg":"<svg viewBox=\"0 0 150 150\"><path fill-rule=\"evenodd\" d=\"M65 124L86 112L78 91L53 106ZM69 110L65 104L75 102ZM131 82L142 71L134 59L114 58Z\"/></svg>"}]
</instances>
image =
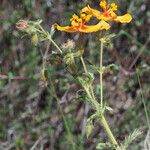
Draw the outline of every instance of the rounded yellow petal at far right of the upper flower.
<instances>
[{"instance_id":1,"label":"rounded yellow petal at far right of the upper flower","mask_svg":"<svg viewBox=\"0 0 150 150\"><path fill-rule=\"evenodd\" d=\"M132 20L132 16L130 14L125 14L123 16L117 16L114 21L121 23L129 23Z\"/></svg>"}]
</instances>

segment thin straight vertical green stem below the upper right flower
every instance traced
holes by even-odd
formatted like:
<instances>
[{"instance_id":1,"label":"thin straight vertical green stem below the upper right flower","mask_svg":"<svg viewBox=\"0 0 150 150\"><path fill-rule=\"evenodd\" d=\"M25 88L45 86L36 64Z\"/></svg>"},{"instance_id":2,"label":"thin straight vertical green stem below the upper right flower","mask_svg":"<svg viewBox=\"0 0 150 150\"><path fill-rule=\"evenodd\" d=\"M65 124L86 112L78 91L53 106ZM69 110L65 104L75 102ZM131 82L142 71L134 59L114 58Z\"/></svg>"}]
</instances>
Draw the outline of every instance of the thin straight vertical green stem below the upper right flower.
<instances>
[{"instance_id":1,"label":"thin straight vertical green stem below the upper right flower","mask_svg":"<svg viewBox=\"0 0 150 150\"><path fill-rule=\"evenodd\" d=\"M103 42L101 41L100 48L100 98L101 98L101 108L103 107Z\"/></svg>"}]
</instances>

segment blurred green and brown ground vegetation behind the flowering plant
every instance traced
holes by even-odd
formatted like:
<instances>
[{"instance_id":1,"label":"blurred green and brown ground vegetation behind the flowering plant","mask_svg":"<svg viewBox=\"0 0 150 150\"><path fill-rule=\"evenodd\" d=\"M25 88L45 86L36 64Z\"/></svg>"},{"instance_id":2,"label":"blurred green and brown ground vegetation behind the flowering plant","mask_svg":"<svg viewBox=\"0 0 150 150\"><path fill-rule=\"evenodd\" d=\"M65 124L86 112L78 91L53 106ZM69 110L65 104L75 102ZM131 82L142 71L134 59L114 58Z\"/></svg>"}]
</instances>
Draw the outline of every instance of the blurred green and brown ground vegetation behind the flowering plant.
<instances>
[{"instance_id":1,"label":"blurred green and brown ground vegetation behind the flowering plant","mask_svg":"<svg viewBox=\"0 0 150 150\"><path fill-rule=\"evenodd\" d=\"M105 99L113 108L108 118L120 142L135 128L142 128L143 134L129 148L141 150L148 131L143 103L150 114L150 1L114 2L119 14L128 11L134 19L130 24L112 24L110 32L117 36L113 47L104 51L104 64L115 63L120 68L104 77ZM50 64L49 56L50 88L44 87L42 54L55 48L48 43L35 47L15 28L19 19L42 19L50 31L56 22L69 24L71 15L88 3L99 7L99 0L0 1L0 150L94 150L97 143L107 141L97 122L89 139L85 137L86 119L92 110L75 100L81 87L61 62ZM99 43L94 35L85 36L84 56L98 64ZM56 31L54 39L62 45L68 39L77 42L78 35ZM98 78L95 85L97 92Z\"/></svg>"}]
</instances>

